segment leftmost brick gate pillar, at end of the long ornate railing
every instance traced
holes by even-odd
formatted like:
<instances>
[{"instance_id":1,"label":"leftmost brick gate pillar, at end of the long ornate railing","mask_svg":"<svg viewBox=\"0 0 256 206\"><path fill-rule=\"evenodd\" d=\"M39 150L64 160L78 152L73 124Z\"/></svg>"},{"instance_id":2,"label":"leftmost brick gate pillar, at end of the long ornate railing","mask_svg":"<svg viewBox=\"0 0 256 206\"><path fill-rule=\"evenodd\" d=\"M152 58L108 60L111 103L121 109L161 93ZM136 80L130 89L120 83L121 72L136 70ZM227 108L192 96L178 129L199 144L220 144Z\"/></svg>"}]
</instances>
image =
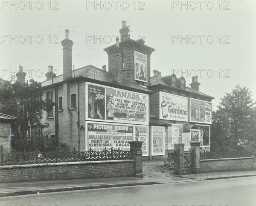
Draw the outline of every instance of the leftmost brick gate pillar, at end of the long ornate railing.
<instances>
[{"instance_id":1,"label":"leftmost brick gate pillar, at end of the long ornate railing","mask_svg":"<svg viewBox=\"0 0 256 206\"><path fill-rule=\"evenodd\" d=\"M134 160L135 177L143 177L142 173L142 146L141 141L129 142L131 148L131 158Z\"/></svg>"}]
</instances>

